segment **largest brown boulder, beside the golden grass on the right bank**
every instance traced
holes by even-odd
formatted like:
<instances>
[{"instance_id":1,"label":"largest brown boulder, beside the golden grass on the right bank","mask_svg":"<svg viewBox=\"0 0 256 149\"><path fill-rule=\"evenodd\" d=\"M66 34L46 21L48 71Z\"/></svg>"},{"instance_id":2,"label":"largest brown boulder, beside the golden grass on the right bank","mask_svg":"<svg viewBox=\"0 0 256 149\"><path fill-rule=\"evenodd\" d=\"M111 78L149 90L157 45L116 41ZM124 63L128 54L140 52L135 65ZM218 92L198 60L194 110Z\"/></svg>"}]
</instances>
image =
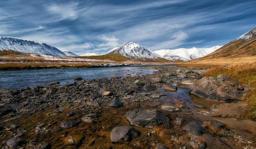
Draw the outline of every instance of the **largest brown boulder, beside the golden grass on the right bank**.
<instances>
[{"instance_id":1,"label":"largest brown boulder, beside the golden grass on the right bank","mask_svg":"<svg viewBox=\"0 0 256 149\"><path fill-rule=\"evenodd\" d=\"M203 77L193 84L190 92L205 99L229 102L243 96L244 91L238 90L238 85L235 80L226 76Z\"/></svg>"}]
</instances>

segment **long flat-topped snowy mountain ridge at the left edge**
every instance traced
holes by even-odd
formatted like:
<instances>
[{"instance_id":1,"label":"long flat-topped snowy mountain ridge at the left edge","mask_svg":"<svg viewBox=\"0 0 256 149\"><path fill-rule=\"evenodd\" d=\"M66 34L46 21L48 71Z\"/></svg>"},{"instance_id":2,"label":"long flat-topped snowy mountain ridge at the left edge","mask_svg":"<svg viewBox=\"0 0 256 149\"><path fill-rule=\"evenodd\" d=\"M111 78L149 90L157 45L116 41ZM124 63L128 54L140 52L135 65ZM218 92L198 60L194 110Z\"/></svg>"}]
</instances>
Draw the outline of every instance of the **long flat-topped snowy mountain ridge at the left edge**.
<instances>
[{"instance_id":1,"label":"long flat-topped snowy mountain ridge at the left edge","mask_svg":"<svg viewBox=\"0 0 256 149\"><path fill-rule=\"evenodd\" d=\"M67 55L59 49L45 43L35 42L27 39L14 37L0 37L0 50L13 50L23 53L39 55L63 56Z\"/></svg>"}]
</instances>

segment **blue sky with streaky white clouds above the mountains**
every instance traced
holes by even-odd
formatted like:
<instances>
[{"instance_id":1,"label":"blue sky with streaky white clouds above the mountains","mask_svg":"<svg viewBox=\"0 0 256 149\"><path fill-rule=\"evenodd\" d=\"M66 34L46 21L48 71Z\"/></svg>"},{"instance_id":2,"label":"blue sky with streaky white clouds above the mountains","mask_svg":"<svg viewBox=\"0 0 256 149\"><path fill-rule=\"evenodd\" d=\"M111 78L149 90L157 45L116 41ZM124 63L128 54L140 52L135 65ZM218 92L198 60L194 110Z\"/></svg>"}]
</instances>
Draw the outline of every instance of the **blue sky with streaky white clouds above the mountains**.
<instances>
[{"instance_id":1,"label":"blue sky with streaky white clouds above the mountains","mask_svg":"<svg viewBox=\"0 0 256 149\"><path fill-rule=\"evenodd\" d=\"M256 0L0 0L0 36L77 54L224 45L256 27Z\"/></svg>"}]
</instances>

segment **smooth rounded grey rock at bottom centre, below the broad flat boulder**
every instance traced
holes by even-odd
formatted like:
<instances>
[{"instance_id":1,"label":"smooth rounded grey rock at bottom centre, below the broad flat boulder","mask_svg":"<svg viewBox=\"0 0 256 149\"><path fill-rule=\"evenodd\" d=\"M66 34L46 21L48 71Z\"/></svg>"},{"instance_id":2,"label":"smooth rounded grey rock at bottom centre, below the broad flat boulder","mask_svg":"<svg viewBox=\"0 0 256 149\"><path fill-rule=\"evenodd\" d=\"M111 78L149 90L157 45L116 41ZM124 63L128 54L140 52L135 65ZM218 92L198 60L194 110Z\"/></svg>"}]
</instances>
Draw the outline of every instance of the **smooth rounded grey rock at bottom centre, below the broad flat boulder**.
<instances>
[{"instance_id":1,"label":"smooth rounded grey rock at bottom centre, below the broad flat boulder","mask_svg":"<svg viewBox=\"0 0 256 149\"><path fill-rule=\"evenodd\" d=\"M131 126L117 126L110 133L110 139L113 143L131 141L139 136L139 132Z\"/></svg>"}]
</instances>

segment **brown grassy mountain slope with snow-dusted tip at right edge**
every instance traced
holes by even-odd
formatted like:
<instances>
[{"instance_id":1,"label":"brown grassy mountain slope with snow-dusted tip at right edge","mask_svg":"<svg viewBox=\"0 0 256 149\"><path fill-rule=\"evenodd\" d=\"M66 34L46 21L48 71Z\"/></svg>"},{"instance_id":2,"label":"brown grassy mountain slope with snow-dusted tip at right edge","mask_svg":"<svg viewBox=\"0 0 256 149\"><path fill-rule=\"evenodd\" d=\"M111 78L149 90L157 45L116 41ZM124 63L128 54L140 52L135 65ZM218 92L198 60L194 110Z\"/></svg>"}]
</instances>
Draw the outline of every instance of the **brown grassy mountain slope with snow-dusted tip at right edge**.
<instances>
[{"instance_id":1,"label":"brown grassy mountain slope with snow-dusted tip at right edge","mask_svg":"<svg viewBox=\"0 0 256 149\"><path fill-rule=\"evenodd\" d=\"M237 39L223 45L220 49L209 55L198 58L195 61L209 60L213 58L241 58L256 56L256 28L244 33Z\"/></svg>"}]
</instances>

